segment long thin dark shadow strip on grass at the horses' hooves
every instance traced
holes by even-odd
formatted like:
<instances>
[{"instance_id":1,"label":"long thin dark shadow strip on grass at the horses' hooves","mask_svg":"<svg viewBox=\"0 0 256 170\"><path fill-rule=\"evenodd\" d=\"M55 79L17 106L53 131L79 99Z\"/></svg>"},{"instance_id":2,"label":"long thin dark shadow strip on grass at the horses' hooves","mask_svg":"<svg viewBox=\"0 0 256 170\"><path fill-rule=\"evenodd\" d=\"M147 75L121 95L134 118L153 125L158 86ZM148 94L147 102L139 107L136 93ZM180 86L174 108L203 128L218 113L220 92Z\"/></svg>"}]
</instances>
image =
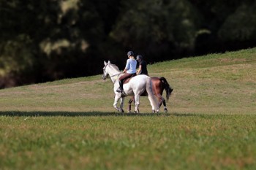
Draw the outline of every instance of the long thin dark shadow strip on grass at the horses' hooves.
<instances>
[{"instance_id":1,"label":"long thin dark shadow strip on grass at the horses' hooves","mask_svg":"<svg viewBox=\"0 0 256 170\"><path fill-rule=\"evenodd\" d=\"M120 113L120 112L21 112L21 111L0 111L0 116L10 117L86 117L86 116L195 116L196 114L178 114L178 113Z\"/></svg>"}]
</instances>

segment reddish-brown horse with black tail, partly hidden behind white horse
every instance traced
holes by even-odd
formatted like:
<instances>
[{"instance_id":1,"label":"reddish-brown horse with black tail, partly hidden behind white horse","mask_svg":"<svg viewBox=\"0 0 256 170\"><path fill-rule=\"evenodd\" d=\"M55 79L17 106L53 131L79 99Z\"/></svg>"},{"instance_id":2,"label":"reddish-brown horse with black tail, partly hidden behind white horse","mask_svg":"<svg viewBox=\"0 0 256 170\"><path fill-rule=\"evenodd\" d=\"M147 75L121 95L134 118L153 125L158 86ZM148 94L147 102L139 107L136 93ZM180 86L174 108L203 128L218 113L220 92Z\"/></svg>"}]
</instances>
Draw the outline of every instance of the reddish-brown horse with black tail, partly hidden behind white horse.
<instances>
[{"instance_id":1,"label":"reddish-brown horse with black tail, partly hidden behind white horse","mask_svg":"<svg viewBox=\"0 0 256 170\"><path fill-rule=\"evenodd\" d=\"M157 96L157 99L159 101L159 107L161 107L161 105L163 104L164 111L167 112L166 102L165 102L165 98L162 97L162 92L163 92L163 90L165 90L166 99L168 101L171 93L173 92L173 88L170 87L170 85L167 82L167 80L165 79L165 77L151 77L151 80L152 80L152 89L154 91L154 95ZM146 92L144 92L140 96L148 96L148 94ZM131 112L132 101L135 101L134 96L132 96L132 98L129 99L128 112Z\"/></svg>"}]
</instances>

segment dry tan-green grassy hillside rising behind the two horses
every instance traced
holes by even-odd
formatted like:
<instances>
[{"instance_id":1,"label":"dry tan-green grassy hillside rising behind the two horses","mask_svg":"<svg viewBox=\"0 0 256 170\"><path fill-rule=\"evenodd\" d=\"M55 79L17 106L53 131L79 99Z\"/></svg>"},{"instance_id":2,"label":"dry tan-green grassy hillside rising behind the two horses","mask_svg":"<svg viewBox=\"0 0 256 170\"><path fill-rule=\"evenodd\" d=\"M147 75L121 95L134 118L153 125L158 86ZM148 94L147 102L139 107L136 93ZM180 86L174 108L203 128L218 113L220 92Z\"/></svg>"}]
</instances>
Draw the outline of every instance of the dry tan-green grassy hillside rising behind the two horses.
<instances>
[{"instance_id":1,"label":"dry tan-green grassy hillside rising behind the two horses","mask_svg":"<svg viewBox=\"0 0 256 170\"><path fill-rule=\"evenodd\" d=\"M148 72L174 89L170 113L256 110L256 48L155 63ZM116 112L113 84L101 75L3 89L0 96L1 112ZM148 98L141 98L140 111L151 112Z\"/></svg>"}]
</instances>

